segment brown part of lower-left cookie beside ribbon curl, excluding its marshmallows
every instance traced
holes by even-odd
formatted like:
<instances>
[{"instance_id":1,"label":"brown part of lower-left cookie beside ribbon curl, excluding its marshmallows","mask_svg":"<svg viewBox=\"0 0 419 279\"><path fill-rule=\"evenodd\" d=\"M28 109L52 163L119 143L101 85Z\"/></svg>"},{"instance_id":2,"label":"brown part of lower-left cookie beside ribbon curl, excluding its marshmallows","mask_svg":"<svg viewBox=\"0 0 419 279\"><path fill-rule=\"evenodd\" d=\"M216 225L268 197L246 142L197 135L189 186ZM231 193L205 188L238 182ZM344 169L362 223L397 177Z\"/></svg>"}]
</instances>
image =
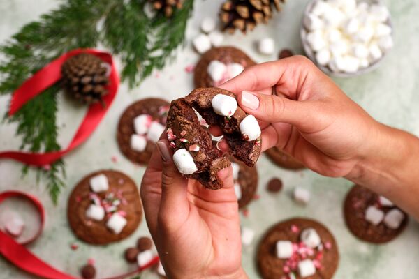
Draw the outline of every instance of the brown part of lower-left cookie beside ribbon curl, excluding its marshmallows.
<instances>
[{"instance_id":1,"label":"brown part of lower-left cookie beside ribbon curl, excluding its marshmallows","mask_svg":"<svg viewBox=\"0 0 419 279\"><path fill-rule=\"evenodd\" d=\"M100 174L108 180L108 190L94 193L91 190L91 179L101 176ZM96 220L88 217L89 214L97 216L97 213L88 213L91 206L99 211L99 216L100 211L103 212L101 220L100 217ZM108 221L115 214L119 215L119 219L126 220L126 225L118 234L108 227ZM141 216L142 204L138 188L122 172L101 170L89 174L75 186L68 199L67 217L71 229L79 239L91 244L106 244L125 239L138 227Z\"/></svg>"}]
</instances>

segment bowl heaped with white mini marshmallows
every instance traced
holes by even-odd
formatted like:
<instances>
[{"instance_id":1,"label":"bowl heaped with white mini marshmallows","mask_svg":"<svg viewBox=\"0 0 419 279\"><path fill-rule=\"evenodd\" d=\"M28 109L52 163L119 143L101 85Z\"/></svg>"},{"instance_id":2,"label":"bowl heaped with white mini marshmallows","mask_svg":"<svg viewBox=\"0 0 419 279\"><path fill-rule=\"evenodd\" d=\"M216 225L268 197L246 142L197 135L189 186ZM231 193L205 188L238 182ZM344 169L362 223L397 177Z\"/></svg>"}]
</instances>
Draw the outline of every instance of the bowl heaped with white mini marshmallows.
<instances>
[{"instance_id":1,"label":"bowl heaped with white mini marshmallows","mask_svg":"<svg viewBox=\"0 0 419 279\"><path fill-rule=\"evenodd\" d=\"M300 31L304 52L337 77L377 68L393 46L388 8L380 0L314 0Z\"/></svg>"}]
</instances>

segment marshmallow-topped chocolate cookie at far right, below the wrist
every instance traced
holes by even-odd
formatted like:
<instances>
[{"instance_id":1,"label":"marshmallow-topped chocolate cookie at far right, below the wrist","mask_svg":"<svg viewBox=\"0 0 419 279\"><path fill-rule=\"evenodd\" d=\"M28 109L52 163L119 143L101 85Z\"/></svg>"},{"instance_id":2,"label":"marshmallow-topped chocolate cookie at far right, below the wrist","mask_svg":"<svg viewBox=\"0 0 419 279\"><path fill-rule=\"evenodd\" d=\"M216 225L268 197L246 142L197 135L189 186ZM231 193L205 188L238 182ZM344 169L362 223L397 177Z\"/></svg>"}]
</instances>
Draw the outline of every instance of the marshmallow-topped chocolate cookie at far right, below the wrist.
<instances>
[{"instance_id":1,"label":"marshmallow-topped chocolate cookie at far right, below the wrist","mask_svg":"<svg viewBox=\"0 0 419 279\"><path fill-rule=\"evenodd\" d=\"M346 195L344 217L348 229L358 239L386 243L399 236L409 217L395 204L362 186L353 186Z\"/></svg>"}]
</instances>

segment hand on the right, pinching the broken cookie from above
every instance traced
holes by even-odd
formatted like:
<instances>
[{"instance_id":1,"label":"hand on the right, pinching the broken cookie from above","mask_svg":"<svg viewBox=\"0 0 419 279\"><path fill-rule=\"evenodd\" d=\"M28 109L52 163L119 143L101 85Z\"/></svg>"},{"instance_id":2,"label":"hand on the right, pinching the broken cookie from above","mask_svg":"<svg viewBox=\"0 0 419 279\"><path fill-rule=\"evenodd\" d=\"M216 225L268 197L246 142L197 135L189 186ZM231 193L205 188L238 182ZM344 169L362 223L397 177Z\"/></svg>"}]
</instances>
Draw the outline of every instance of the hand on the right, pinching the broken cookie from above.
<instances>
[{"instance_id":1,"label":"hand on the right, pinching the broken cookie from above","mask_svg":"<svg viewBox=\"0 0 419 279\"><path fill-rule=\"evenodd\" d=\"M263 151L278 146L319 174L348 175L376 142L378 123L303 56L247 68L220 87L256 116Z\"/></svg>"}]
</instances>

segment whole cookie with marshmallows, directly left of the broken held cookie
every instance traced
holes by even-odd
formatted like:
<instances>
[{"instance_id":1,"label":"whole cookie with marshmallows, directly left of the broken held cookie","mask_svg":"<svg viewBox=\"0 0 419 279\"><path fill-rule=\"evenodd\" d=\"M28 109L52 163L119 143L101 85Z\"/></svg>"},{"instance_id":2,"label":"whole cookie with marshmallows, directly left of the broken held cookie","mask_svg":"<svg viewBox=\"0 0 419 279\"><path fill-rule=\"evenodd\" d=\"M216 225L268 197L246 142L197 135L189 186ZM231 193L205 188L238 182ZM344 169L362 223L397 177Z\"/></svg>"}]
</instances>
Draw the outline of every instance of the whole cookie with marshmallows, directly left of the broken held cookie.
<instances>
[{"instance_id":1,"label":"whole cookie with marshmallows, directly left of the broken held cookie","mask_svg":"<svg viewBox=\"0 0 419 279\"><path fill-rule=\"evenodd\" d=\"M138 100L119 119L119 149L133 163L147 164L166 127L169 103L159 98Z\"/></svg>"}]
</instances>

